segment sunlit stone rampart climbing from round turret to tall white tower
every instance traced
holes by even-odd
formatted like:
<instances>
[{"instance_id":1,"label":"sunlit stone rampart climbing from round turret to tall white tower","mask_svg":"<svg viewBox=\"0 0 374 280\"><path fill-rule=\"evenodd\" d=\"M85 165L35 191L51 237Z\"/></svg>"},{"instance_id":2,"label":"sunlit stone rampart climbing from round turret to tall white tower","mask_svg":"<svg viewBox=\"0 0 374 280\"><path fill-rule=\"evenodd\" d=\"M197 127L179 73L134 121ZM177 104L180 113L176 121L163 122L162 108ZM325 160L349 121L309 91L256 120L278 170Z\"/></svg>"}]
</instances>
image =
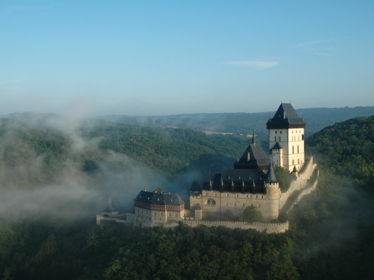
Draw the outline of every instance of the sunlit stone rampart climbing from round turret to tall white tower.
<instances>
[{"instance_id":1,"label":"sunlit stone rampart climbing from round turret to tall white tower","mask_svg":"<svg viewBox=\"0 0 374 280\"><path fill-rule=\"evenodd\" d=\"M291 182L291 186L287 190L287 192L282 193L281 199L279 200L279 209L285 205L288 197L295 191L303 189L306 184L307 180L312 176L314 169L316 168L316 164L313 164L313 157L307 159L305 163L305 167L303 171L297 174L296 180Z\"/></svg>"}]
</instances>

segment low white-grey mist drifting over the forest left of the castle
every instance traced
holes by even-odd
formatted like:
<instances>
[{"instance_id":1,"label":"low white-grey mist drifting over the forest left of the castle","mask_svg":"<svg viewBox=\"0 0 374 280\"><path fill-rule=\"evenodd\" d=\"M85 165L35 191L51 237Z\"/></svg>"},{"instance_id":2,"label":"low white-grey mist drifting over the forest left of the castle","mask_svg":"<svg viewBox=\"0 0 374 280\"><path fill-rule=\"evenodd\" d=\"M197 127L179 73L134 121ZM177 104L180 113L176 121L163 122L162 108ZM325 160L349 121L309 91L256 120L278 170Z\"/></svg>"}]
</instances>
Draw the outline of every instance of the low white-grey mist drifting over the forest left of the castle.
<instances>
[{"instance_id":1,"label":"low white-grey mist drifting over the forest left of the castle","mask_svg":"<svg viewBox=\"0 0 374 280\"><path fill-rule=\"evenodd\" d=\"M171 180L125 154L100 150L102 136L84 139L82 123L95 125L54 115L1 119L0 217L94 218L108 208L108 197L124 212L140 190L157 187L188 198L199 174L189 170Z\"/></svg>"}]
</instances>

